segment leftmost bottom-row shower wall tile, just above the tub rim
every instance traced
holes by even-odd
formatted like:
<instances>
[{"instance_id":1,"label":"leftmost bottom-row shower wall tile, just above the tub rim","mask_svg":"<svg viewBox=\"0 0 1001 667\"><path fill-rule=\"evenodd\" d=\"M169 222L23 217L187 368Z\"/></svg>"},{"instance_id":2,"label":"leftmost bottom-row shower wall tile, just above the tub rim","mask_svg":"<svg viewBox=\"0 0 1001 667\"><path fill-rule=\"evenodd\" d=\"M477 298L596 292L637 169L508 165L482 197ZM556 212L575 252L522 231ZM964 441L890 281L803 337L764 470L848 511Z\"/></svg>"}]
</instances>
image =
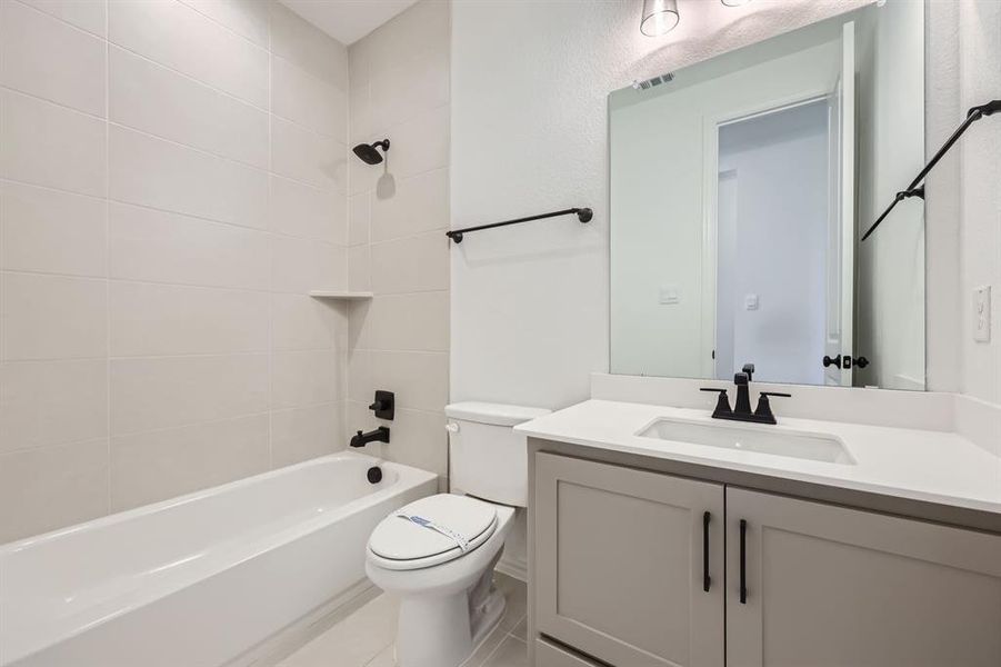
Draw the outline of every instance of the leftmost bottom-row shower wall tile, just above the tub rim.
<instances>
[{"instance_id":1,"label":"leftmost bottom-row shower wall tile, just above the tub rim","mask_svg":"<svg viewBox=\"0 0 1001 667\"><path fill-rule=\"evenodd\" d=\"M107 511L107 440L0 455L0 544Z\"/></svg>"}]
</instances>

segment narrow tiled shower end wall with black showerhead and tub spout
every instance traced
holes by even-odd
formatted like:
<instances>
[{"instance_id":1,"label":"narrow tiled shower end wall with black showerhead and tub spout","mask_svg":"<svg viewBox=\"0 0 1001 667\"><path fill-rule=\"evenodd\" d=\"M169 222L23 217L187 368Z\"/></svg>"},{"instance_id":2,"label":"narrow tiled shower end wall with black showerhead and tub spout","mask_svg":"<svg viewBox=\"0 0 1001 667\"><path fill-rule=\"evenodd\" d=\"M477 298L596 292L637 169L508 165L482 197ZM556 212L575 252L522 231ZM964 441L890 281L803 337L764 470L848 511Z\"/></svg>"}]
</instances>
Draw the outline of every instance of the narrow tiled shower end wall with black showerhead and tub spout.
<instances>
[{"instance_id":1,"label":"narrow tiled shower end wall with black showerhead and tub spout","mask_svg":"<svg viewBox=\"0 0 1001 667\"><path fill-rule=\"evenodd\" d=\"M352 305L346 429L371 428L374 389L397 395L389 459L432 470L444 488L449 398L450 6L422 0L348 52L350 143L389 138L378 166L349 160ZM374 446L369 446L373 448Z\"/></svg>"}]
</instances>

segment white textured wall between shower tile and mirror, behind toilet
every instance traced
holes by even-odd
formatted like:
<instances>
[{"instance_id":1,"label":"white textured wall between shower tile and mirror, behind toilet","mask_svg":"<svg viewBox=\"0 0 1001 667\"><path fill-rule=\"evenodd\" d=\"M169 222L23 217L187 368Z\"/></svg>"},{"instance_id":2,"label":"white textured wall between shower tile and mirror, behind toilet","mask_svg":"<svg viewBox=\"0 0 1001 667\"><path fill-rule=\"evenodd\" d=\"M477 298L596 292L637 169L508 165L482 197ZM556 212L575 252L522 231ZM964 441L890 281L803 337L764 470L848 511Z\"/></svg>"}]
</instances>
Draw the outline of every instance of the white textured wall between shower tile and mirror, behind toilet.
<instances>
[{"instance_id":1,"label":"white textured wall between shower tile and mirror, behind toilet","mask_svg":"<svg viewBox=\"0 0 1001 667\"><path fill-rule=\"evenodd\" d=\"M662 39L632 2L462 2L452 16L452 227L571 206L452 250L451 398L563 407L607 370L607 94L853 2L690 10ZM517 38L512 38L517 36Z\"/></svg>"}]
</instances>

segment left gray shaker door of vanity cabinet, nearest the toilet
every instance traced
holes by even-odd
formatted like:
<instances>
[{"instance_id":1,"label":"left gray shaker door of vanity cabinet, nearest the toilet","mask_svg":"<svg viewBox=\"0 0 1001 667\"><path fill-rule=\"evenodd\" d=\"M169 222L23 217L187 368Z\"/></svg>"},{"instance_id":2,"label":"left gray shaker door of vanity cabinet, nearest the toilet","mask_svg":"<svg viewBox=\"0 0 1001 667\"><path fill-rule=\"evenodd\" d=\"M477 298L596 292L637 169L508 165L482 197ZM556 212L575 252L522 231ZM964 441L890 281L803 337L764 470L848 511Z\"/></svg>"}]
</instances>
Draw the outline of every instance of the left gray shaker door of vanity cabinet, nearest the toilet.
<instances>
[{"instance_id":1,"label":"left gray shaker door of vanity cabinet, nearest the toilet","mask_svg":"<svg viewBox=\"0 0 1001 667\"><path fill-rule=\"evenodd\" d=\"M540 452L532 510L539 633L615 667L722 667L721 485Z\"/></svg>"}]
</instances>

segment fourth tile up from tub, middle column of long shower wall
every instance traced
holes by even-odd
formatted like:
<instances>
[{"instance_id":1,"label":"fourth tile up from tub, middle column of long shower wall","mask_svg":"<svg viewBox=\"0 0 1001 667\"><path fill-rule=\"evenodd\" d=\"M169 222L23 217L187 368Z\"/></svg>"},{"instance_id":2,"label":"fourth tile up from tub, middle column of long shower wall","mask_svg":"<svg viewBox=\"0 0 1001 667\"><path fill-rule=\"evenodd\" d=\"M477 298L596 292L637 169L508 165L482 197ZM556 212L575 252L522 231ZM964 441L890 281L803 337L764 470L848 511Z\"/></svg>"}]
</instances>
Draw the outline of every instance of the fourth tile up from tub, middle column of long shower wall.
<instances>
[{"instance_id":1,"label":"fourth tile up from tub, middle column of long shower wall","mask_svg":"<svg viewBox=\"0 0 1001 667\"><path fill-rule=\"evenodd\" d=\"M111 202L110 276L149 282L267 290L267 232Z\"/></svg>"}]
</instances>

